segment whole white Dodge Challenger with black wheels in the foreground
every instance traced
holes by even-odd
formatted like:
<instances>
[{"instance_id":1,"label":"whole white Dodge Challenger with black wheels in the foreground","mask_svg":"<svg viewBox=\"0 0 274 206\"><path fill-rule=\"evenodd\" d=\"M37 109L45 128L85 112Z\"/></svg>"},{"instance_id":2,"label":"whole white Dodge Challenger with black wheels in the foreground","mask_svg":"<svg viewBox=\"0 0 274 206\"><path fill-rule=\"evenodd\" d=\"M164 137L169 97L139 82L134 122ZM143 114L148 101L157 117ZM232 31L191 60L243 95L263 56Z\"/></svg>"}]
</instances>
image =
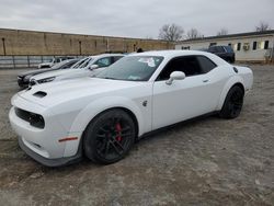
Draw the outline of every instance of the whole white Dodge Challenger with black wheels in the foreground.
<instances>
[{"instance_id":1,"label":"whole white Dodge Challenger with black wheels in the foreground","mask_svg":"<svg viewBox=\"0 0 274 206\"><path fill-rule=\"evenodd\" d=\"M48 167L82 156L113 163L151 130L204 114L237 117L253 73L204 52L132 54L96 77L15 94L10 123L20 147Z\"/></svg>"}]
</instances>

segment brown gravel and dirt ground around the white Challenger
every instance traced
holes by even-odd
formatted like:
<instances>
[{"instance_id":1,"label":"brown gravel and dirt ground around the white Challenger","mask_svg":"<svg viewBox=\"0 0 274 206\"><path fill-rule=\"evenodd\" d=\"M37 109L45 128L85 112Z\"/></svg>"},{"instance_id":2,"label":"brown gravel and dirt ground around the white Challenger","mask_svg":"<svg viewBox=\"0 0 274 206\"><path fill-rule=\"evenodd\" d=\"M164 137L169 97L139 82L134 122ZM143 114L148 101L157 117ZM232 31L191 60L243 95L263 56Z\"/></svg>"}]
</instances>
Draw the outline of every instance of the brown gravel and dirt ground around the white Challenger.
<instances>
[{"instance_id":1,"label":"brown gravel and dirt ground around the white Challenger","mask_svg":"<svg viewBox=\"0 0 274 206\"><path fill-rule=\"evenodd\" d=\"M250 66L241 115L179 124L111 165L45 168L8 121L16 73L0 70L0 205L274 205L274 67Z\"/></svg>"}]
</instances>

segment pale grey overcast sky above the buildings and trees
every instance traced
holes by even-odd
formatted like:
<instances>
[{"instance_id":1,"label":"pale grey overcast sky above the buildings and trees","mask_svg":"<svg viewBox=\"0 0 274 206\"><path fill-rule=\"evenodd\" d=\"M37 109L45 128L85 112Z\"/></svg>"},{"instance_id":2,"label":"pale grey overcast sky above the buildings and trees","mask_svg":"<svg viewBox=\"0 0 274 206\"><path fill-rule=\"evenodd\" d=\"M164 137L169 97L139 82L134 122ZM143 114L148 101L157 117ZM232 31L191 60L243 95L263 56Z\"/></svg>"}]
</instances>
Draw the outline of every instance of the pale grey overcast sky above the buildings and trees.
<instances>
[{"instance_id":1,"label":"pale grey overcast sky above the buildings and trees","mask_svg":"<svg viewBox=\"0 0 274 206\"><path fill-rule=\"evenodd\" d=\"M274 0L0 0L0 27L157 38L163 24L205 36L274 28Z\"/></svg>"}]
</instances>

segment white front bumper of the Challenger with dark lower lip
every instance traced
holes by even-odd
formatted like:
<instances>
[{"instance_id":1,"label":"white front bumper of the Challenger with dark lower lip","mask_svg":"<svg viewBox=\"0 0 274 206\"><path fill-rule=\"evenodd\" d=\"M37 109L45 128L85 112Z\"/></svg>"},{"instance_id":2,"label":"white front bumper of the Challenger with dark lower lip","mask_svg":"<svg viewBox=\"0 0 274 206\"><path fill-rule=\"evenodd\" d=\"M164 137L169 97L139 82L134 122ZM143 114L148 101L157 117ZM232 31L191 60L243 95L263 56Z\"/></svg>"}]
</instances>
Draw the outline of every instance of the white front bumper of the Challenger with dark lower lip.
<instances>
[{"instance_id":1,"label":"white front bumper of the Challenger with dark lower lip","mask_svg":"<svg viewBox=\"0 0 274 206\"><path fill-rule=\"evenodd\" d=\"M24 102L21 99L21 107ZM27 107L33 108L31 103ZM23 107L26 110L25 107ZM33 108L34 110L34 108ZM33 111L34 112L34 111ZM45 115L45 128L36 128L20 118L14 107L10 110L9 118L13 130L19 135L20 147L34 160L47 167L65 165L78 161L81 157L79 140L60 142L59 139L70 134L61 126L55 116ZM78 139L80 137L77 135Z\"/></svg>"}]
</instances>

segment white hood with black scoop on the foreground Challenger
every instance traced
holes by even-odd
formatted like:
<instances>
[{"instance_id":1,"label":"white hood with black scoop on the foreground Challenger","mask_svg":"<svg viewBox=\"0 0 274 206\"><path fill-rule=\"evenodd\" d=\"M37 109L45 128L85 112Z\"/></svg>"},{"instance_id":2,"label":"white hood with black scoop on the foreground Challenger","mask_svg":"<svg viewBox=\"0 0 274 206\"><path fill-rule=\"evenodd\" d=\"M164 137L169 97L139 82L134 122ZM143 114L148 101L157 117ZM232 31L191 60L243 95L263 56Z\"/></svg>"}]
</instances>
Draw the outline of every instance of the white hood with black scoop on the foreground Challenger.
<instances>
[{"instance_id":1,"label":"white hood with black scoop on the foreground Challenger","mask_svg":"<svg viewBox=\"0 0 274 206\"><path fill-rule=\"evenodd\" d=\"M146 82L85 77L38 84L19 92L18 95L41 106L50 107L69 101L77 101L77 104L83 103L84 100L90 102L144 83Z\"/></svg>"}]
</instances>

